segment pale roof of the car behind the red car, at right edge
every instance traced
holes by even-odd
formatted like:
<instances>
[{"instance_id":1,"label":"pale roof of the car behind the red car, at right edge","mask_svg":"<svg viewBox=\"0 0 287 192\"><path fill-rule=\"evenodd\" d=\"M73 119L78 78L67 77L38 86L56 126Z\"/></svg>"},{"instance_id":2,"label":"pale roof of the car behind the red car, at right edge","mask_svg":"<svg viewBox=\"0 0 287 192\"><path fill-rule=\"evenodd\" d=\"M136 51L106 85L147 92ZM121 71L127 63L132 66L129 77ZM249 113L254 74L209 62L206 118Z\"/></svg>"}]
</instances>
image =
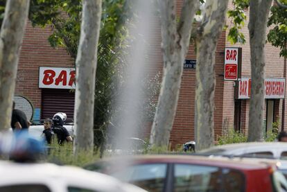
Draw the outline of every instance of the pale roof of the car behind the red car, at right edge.
<instances>
[{"instance_id":1,"label":"pale roof of the car behind the red car, at right edge","mask_svg":"<svg viewBox=\"0 0 287 192\"><path fill-rule=\"evenodd\" d=\"M234 150L244 150L246 148L254 148L259 150L287 150L287 142L247 142L247 143L232 143L223 146L214 146L206 150L200 150L198 153L208 152L232 152Z\"/></svg>"}]
</instances>

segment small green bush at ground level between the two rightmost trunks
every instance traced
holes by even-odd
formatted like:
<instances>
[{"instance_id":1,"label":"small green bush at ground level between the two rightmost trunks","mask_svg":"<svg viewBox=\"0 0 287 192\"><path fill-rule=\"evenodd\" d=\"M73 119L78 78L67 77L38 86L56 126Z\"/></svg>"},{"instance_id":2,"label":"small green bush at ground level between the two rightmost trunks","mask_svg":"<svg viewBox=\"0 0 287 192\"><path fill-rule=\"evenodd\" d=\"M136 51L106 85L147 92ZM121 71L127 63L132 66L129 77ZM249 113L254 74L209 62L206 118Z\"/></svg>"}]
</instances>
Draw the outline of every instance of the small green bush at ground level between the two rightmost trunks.
<instances>
[{"instance_id":1,"label":"small green bush at ground level between the two rightmost trunks","mask_svg":"<svg viewBox=\"0 0 287 192\"><path fill-rule=\"evenodd\" d=\"M236 132L234 129L229 129L227 134L218 137L218 145L228 143L243 143L247 141L247 136L243 132Z\"/></svg>"}]
</instances>

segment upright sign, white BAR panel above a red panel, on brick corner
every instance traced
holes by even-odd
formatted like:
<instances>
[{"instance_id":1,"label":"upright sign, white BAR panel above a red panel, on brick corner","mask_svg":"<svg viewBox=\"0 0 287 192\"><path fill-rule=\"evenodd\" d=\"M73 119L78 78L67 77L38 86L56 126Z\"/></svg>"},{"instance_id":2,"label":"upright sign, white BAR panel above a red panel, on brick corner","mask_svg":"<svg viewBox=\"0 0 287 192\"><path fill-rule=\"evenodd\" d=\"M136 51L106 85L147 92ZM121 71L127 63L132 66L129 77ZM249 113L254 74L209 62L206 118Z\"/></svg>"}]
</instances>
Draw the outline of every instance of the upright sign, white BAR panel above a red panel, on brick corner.
<instances>
[{"instance_id":1,"label":"upright sign, white BAR panel above a red panel, on brick corner","mask_svg":"<svg viewBox=\"0 0 287 192\"><path fill-rule=\"evenodd\" d=\"M224 80L237 80L238 74L240 76L241 50L239 47L225 47Z\"/></svg>"}]
</instances>

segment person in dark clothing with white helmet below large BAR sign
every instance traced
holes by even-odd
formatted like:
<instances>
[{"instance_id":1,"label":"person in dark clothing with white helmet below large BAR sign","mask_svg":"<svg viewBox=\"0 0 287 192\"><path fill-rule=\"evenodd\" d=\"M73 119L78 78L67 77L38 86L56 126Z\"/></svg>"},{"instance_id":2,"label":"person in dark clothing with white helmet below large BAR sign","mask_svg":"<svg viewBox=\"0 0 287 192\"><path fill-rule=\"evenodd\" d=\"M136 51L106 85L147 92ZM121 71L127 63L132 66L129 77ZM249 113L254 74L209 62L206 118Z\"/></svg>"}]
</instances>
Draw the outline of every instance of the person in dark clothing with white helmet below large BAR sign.
<instances>
[{"instance_id":1,"label":"person in dark clothing with white helmet below large BAR sign","mask_svg":"<svg viewBox=\"0 0 287 192\"><path fill-rule=\"evenodd\" d=\"M68 130L64 128L64 121L67 119L67 114L58 112L53 116L53 132L57 135L59 145L62 145L64 141L73 141L73 138L69 134Z\"/></svg>"}]
</instances>

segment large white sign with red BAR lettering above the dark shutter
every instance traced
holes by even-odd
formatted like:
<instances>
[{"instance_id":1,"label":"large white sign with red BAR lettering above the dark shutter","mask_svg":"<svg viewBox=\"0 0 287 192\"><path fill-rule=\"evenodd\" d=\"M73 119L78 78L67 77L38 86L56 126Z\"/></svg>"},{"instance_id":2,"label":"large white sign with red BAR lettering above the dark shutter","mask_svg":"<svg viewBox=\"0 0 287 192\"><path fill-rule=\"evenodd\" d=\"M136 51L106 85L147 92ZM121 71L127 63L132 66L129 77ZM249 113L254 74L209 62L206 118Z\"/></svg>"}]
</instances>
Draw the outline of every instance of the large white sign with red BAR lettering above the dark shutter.
<instances>
[{"instance_id":1,"label":"large white sign with red BAR lettering above the dark shutter","mask_svg":"<svg viewBox=\"0 0 287 192\"><path fill-rule=\"evenodd\" d=\"M75 89L74 68L40 67L39 88Z\"/></svg>"}]
</instances>

